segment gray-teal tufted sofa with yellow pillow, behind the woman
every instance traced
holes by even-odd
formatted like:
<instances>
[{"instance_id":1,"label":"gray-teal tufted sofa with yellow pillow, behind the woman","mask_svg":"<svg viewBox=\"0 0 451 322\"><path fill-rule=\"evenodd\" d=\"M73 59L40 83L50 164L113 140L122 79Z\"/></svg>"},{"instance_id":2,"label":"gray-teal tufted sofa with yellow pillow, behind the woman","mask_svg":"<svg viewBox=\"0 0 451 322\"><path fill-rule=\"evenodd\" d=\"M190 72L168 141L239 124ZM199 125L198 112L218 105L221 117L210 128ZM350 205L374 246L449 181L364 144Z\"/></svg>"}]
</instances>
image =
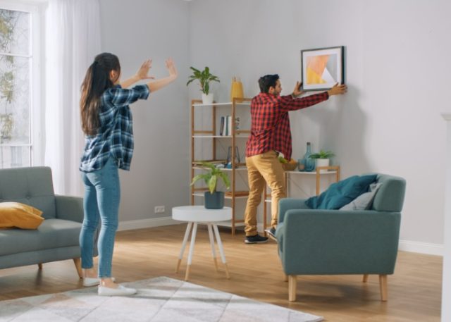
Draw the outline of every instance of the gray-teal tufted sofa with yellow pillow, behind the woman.
<instances>
[{"instance_id":1,"label":"gray-teal tufted sofa with yellow pillow, behind the woman","mask_svg":"<svg viewBox=\"0 0 451 322\"><path fill-rule=\"evenodd\" d=\"M78 275L82 198L54 194L48 167L0 170L0 202L21 202L43 211L37 230L0 230L0 268L73 259Z\"/></svg>"}]
</instances>

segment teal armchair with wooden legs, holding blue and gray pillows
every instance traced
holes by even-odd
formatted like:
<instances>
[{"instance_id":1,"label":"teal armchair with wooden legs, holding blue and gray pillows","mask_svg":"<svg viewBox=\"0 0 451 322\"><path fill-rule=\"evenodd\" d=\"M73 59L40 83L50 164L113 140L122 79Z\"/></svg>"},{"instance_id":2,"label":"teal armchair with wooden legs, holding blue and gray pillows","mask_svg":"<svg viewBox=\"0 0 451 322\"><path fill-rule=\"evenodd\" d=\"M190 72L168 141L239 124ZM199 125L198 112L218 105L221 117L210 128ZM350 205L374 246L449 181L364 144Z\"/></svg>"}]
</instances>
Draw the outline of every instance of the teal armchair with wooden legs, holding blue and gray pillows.
<instances>
[{"instance_id":1,"label":"teal armchair with wooden legs, holding blue and gray pillows","mask_svg":"<svg viewBox=\"0 0 451 322\"><path fill-rule=\"evenodd\" d=\"M395 269L406 182L378 174L382 183L371 209L309 209L305 199L281 199L276 230L278 253L288 277L288 299L296 300L297 275L379 275L387 300L387 275Z\"/></svg>"}]
</instances>

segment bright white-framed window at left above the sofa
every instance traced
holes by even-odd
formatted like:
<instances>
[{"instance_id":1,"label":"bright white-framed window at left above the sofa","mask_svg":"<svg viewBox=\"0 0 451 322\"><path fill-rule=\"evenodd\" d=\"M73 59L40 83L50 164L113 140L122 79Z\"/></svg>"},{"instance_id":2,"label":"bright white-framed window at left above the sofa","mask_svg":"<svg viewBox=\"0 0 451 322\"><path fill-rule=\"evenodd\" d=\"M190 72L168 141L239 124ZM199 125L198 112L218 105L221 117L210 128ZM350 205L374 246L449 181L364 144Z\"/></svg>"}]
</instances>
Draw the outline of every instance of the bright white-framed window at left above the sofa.
<instances>
[{"instance_id":1,"label":"bright white-framed window at left above the sofa","mask_svg":"<svg viewBox=\"0 0 451 322\"><path fill-rule=\"evenodd\" d=\"M32 165L35 16L32 6L0 4L0 168Z\"/></svg>"}]
</instances>

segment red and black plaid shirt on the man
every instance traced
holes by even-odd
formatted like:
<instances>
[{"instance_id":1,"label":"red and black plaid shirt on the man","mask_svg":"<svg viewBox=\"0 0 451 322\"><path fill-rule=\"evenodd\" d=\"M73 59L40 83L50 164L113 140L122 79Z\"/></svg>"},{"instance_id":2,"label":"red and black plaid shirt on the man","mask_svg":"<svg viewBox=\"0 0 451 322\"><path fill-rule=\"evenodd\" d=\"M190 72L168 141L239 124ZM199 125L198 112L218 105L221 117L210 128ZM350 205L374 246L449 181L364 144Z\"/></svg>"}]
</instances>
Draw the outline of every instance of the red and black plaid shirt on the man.
<instances>
[{"instance_id":1,"label":"red and black plaid shirt on the man","mask_svg":"<svg viewBox=\"0 0 451 322\"><path fill-rule=\"evenodd\" d=\"M246 156L267 151L279 151L285 159L291 159L291 130L289 111L326 101L327 92L293 99L291 95L274 96L260 93L251 102L251 135L246 144Z\"/></svg>"}]
</instances>

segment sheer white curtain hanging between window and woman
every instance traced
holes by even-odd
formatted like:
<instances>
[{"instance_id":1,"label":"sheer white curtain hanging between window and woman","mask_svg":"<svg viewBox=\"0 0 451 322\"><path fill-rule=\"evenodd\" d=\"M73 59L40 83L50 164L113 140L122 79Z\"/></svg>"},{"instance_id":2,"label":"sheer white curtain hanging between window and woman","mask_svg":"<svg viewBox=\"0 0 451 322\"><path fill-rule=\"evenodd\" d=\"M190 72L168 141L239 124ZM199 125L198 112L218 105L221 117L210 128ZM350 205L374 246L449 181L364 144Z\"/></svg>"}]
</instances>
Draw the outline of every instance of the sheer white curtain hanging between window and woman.
<instances>
[{"instance_id":1,"label":"sheer white curtain hanging between window and woman","mask_svg":"<svg viewBox=\"0 0 451 322\"><path fill-rule=\"evenodd\" d=\"M98 0L50 0L46 12L45 164L56 194L82 195L80 86L100 53Z\"/></svg>"}]
</instances>

